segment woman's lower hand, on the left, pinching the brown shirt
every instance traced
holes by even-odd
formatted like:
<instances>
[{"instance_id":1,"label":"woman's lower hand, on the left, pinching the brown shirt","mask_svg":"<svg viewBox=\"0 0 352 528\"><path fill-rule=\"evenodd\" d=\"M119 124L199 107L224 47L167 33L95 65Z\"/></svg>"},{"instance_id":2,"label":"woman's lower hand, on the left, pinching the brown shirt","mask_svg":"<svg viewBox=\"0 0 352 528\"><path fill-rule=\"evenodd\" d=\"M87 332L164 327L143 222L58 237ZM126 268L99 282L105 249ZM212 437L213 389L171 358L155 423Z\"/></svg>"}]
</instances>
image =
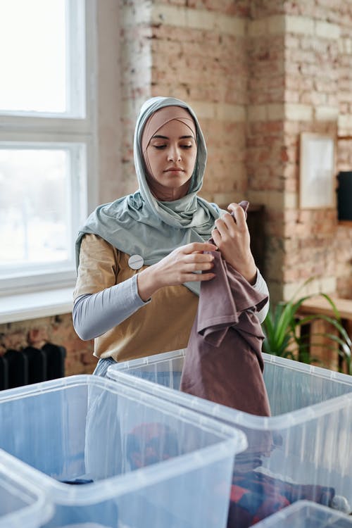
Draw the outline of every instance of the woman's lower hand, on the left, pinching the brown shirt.
<instances>
[{"instance_id":1,"label":"woman's lower hand, on the left, pinching the brown shirt","mask_svg":"<svg viewBox=\"0 0 352 528\"><path fill-rule=\"evenodd\" d=\"M211 253L217 247L209 242L192 242L176 248L158 263L145 268L137 276L138 293L147 301L158 289L178 286L184 282L201 282L215 277L214 257Z\"/></svg>"}]
</instances>

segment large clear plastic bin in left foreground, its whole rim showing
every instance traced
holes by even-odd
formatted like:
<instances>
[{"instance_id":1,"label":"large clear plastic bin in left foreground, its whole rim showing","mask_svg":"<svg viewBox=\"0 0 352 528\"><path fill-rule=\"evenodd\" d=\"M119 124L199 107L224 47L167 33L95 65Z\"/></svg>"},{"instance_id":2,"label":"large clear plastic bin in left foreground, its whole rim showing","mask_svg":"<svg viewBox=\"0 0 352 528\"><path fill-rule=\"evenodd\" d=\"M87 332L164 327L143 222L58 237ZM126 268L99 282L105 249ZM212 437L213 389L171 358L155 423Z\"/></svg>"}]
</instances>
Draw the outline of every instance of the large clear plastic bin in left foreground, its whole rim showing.
<instances>
[{"instance_id":1,"label":"large clear plastic bin in left foreground, its whole rim showing","mask_svg":"<svg viewBox=\"0 0 352 528\"><path fill-rule=\"evenodd\" d=\"M157 392L89 375L1 392L0 448L54 503L44 527L225 528L245 436Z\"/></svg>"}]
</instances>

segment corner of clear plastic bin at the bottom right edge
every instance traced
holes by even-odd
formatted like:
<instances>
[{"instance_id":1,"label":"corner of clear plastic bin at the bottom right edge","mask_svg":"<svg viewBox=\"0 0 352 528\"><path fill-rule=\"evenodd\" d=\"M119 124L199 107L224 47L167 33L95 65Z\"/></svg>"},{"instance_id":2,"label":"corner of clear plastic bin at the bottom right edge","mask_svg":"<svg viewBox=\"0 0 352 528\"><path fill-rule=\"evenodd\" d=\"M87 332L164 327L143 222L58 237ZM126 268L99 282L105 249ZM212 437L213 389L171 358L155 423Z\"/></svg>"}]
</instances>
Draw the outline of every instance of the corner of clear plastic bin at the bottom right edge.
<instances>
[{"instance_id":1,"label":"corner of clear plastic bin at the bottom right edge","mask_svg":"<svg viewBox=\"0 0 352 528\"><path fill-rule=\"evenodd\" d=\"M310 501L297 501L256 524L256 528L352 528L352 518Z\"/></svg>"}]
</instances>

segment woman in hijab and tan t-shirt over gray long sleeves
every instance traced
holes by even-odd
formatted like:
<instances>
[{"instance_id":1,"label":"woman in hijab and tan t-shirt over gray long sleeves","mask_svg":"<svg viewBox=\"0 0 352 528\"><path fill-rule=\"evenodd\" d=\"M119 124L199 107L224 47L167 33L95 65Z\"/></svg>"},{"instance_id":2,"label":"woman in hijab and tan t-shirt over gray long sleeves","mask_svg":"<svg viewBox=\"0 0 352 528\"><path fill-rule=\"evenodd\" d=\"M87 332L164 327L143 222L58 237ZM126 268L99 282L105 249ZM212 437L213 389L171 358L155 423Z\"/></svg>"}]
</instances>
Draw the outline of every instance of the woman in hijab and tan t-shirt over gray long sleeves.
<instances>
[{"instance_id":1,"label":"woman in hijab and tan t-shirt over gray long sleeves","mask_svg":"<svg viewBox=\"0 0 352 528\"><path fill-rule=\"evenodd\" d=\"M230 212L197 193L206 144L194 111L179 99L142 106L134 132L139 189L96 208L77 239L73 322L94 338L94 373L115 361L187 346L200 284L213 279L218 249L253 286L268 293L249 247L244 210ZM212 237L214 244L208 239ZM266 305L258 313L261 321Z\"/></svg>"}]
</instances>

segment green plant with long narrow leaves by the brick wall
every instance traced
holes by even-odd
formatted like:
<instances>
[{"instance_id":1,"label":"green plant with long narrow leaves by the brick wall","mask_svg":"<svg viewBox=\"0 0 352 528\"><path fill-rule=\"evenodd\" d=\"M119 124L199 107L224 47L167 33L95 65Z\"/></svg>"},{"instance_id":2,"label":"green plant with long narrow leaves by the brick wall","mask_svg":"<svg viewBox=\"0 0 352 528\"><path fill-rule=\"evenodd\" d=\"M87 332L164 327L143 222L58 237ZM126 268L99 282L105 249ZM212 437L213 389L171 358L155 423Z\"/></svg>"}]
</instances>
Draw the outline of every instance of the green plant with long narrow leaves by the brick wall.
<instances>
[{"instance_id":1,"label":"green plant with long narrow leaves by the brick wall","mask_svg":"<svg viewBox=\"0 0 352 528\"><path fill-rule=\"evenodd\" d=\"M308 279L301 288L303 288L312 279ZM300 289L301 289L300 288ZM300 291L298 289L298 291ZM275 308L271 308L263 322L263 332L265 339L263 341L263 351L281 356L282 358L296 359L302 363L317 363L318 360L310 355L310 345L307 335L301 330L305 325L309 325L315 320L323 320L329 322L337 331L336 334L326 332L323 334L315 333L314 337L327 338L327 343L320 343L319 346L338 347L339 356L344 360L346 371L352 375L352 360L351 350L352 341L348 336L346 330L341 323L339 311L327 294L320 293L320 296L326 298L327 302L332 306L334 318L328 315L307 315L305 317L298 316L298 310L301 304L306 299L316 296L316 294L306 295L296 298L296 294L287 302L277 303Z\"/></svg>"}]
</instances>

